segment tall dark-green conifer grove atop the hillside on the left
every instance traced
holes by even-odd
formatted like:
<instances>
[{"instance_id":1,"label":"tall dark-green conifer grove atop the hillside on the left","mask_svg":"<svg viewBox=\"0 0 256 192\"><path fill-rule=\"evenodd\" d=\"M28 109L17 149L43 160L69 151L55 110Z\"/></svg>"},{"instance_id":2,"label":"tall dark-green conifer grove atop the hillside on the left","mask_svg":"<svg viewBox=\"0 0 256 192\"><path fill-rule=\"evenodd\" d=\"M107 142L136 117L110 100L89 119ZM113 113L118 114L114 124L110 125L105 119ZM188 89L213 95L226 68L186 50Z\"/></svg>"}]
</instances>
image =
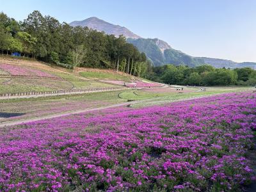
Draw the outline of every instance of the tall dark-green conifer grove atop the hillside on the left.
<instances>
[{"instance_id":1,"label":"tall dark-green conifer grove atop the hillside on the left","mask_svg":"<svg viewBox=\"0 0 256 192\"><path fill-rule=\"evenodd\" d=\"M152 67L145 53L127 43L124 36L72 27L38 11L19 22L0 13L0 51L20 52L63 67L113 68L134 76L145 76Z\"/></svg>"}]
</instances>

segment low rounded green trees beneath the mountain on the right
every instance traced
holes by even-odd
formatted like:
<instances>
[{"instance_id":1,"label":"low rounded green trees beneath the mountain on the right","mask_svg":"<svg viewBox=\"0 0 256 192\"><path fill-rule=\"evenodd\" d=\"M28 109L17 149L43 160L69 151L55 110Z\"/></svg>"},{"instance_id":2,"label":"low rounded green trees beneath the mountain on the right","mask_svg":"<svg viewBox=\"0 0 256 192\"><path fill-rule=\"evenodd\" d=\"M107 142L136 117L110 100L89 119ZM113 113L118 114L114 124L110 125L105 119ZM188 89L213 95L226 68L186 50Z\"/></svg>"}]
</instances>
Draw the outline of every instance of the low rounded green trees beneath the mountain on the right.
<instances>
[{"instance_id":1,"label":"low rounded green trees beneath the mountain on the right","mask_svg":"<svg viewBox=\"0 0 256 192\"><path fill-rule=\"evenodd\" d=\"M180 65L163 65L152 68L148 79L166 84L183 84L191 86L255 86L256 70L244 68L214 68L201 65L195 68Z\"/></svg>"}]
</instances>

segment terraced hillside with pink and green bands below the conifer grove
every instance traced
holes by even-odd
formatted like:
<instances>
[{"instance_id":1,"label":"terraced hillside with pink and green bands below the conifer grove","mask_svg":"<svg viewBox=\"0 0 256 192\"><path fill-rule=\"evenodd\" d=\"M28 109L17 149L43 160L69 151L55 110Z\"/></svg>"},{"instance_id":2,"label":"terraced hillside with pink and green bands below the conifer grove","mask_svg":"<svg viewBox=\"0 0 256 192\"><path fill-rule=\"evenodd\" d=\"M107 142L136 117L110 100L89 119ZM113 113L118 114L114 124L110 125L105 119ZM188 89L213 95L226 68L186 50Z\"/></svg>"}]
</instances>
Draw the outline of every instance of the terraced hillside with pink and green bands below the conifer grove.
<instances>
[{"instance_id":1,"label":"terraced hillside with pink and green bands below the conifer grove","mask_svg":"<svg viewBox=\"0 0 256 192\"><path fill-rule=\"evenodd\" d=\"M21 92L51 92L81 88L163 86L145 83L127 74L113 70L76 68L67 70L38 61L0 58L0 94ZM138 87L138 86L137 86Z\"/></svg>"}]
</instances>

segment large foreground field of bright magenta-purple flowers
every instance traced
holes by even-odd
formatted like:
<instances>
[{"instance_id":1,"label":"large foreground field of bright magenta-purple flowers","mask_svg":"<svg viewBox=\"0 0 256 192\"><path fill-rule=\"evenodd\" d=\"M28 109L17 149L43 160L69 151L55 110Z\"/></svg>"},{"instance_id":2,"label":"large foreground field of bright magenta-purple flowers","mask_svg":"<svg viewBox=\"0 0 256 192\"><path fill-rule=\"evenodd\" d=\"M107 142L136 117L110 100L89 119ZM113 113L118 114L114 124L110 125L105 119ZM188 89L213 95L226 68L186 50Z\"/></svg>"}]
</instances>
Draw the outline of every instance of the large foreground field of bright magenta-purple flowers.
<instances>
[{"instance_id":1,"label":"large foreground field of bright magenta-purple flowers","mask_svg":"<svg viewBox=\"0 0 256 192\"><path fill-rule=\"evenodd\" d=\"M239 191L256 94L115 108L0 130L0 191Z\"/></svg>"}]
</instances>

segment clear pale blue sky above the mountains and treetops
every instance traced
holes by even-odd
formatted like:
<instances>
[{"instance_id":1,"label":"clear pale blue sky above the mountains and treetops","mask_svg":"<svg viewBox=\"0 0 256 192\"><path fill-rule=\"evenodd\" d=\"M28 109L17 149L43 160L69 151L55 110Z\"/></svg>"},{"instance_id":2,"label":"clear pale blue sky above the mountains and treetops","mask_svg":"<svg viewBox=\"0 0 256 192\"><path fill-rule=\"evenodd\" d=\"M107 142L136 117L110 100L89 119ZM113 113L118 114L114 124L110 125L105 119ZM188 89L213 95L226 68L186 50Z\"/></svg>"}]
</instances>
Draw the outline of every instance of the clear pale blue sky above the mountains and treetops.
<instances>
[{"instance_id":1,"label":"clear pale blue sky above the mountains and treetops","mask_svg":"<svg viewBox=\"0 0 256 192\"><path fill-rule=\"evenodd\" d=\"M256 0L0 0L17 20L33 10L61 22L99 17L192 56L256 61Z\"/></svg>"}]
</instances>

